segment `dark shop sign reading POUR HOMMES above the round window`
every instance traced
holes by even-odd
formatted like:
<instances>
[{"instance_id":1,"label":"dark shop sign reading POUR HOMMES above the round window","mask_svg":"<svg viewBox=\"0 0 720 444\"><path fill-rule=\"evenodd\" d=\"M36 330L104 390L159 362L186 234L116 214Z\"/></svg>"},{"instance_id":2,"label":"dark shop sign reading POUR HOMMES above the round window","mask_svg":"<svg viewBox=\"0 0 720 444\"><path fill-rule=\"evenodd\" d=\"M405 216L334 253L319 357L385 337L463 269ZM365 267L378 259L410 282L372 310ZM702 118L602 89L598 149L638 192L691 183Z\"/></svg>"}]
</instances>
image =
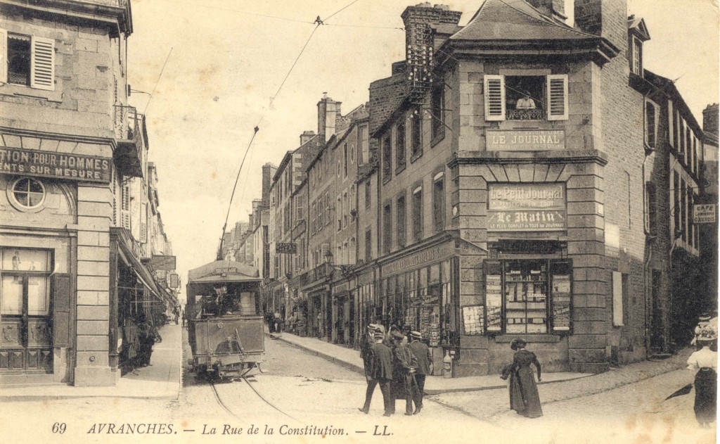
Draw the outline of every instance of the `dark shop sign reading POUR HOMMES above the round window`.
<instances>
[{"instance_id":1,"label":"dark shop sign reading POUR HOMMES above the round window","mask_svg":"<svg viewBox=\"0 0 720 444\"><path fill-rule=\"evenodd\" d=\"M110 182L112 159L0 147L0 172L89 182Z\"/></svg>"}]
</instances>

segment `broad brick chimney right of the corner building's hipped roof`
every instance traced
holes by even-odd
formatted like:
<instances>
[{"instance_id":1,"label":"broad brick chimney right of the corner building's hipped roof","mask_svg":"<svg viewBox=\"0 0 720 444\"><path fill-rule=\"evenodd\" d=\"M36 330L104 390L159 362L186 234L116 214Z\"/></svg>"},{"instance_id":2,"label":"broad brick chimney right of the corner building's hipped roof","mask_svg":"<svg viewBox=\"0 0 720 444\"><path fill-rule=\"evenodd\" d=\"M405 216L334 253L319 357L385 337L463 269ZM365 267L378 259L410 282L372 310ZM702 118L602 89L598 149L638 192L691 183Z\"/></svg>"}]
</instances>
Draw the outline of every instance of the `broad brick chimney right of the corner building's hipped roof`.
<instances>
[{"instance_id":1,"label":"broad brick chimney right of the corner building's hipped roof","mask_svg":"<svg viewBox=\"0 0 720 444\"><path fill-rule=\"evenodd\" d=\"M575 0L575 27L605 37L621 52L628 47L627 0Z\"/></svg>"}]
</instances>

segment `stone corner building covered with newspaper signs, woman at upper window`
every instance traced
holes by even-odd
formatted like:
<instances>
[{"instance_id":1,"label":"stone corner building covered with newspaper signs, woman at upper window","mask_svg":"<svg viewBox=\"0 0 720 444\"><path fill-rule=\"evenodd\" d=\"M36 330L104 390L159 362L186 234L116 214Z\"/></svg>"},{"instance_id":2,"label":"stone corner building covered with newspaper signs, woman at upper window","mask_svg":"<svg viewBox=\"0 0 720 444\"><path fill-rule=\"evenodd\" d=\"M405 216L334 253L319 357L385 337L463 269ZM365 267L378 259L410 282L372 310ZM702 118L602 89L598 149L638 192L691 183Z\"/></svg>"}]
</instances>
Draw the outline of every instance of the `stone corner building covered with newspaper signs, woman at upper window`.
<instances>
[{"instance_id":1,"label":"stone corner building covered with newspaper signs, woman at upper window","mask_svg":"<svg viewBox=\"0 0 720 444\"><path fill-rule=\"evenodd\" d=\"M626 1L575 1L575 28L563 3L487 0L465 27L442 5L402 14L406 94L372 134L379 294L454 376L498 373L515 337L548 371L646 356Z\"/></svg>"}]
</instances>

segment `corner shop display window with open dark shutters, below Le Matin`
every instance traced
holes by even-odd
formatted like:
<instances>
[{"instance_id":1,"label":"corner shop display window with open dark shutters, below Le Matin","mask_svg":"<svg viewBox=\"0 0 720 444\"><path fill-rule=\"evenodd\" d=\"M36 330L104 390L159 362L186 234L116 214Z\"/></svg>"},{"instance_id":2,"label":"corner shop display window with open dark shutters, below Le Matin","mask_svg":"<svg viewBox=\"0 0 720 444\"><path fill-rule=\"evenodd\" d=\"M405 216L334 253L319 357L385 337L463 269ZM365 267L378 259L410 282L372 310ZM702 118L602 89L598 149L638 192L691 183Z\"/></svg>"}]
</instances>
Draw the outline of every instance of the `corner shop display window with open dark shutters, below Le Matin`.
<instances>
[{"instance_id":1,"label":"corner shop display window with open dark shutters, below Le Matin","mask_svg":"<svg viewBox=\"0 0 720 444\"><path fill-rule=\"evenodd\" d=\"M486 261L485 332L569 332L571 275L556 259Z\"/></svg>"}]
</instances>

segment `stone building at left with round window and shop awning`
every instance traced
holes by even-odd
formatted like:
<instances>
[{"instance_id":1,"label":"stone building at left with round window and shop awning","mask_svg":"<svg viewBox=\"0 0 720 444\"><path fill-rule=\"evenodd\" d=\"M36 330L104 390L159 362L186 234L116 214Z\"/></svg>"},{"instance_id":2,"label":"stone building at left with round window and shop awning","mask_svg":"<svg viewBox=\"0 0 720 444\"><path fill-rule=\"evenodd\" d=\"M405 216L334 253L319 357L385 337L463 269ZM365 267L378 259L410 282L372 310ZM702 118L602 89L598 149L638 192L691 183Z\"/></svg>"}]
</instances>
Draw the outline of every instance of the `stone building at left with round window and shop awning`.
<instances>
[{"instance_id":1,"label":"stone building at left with round window and shop awning","mask_svg":"<svg viewBox=\"0 0 720 444\"><path fill-rule=\"evenodd\" d=\"M3 384L112 385L125 326L176 303L142 260L152 195L130 34L130 1L0 2Z\"/></svg>"}]
</instances>

